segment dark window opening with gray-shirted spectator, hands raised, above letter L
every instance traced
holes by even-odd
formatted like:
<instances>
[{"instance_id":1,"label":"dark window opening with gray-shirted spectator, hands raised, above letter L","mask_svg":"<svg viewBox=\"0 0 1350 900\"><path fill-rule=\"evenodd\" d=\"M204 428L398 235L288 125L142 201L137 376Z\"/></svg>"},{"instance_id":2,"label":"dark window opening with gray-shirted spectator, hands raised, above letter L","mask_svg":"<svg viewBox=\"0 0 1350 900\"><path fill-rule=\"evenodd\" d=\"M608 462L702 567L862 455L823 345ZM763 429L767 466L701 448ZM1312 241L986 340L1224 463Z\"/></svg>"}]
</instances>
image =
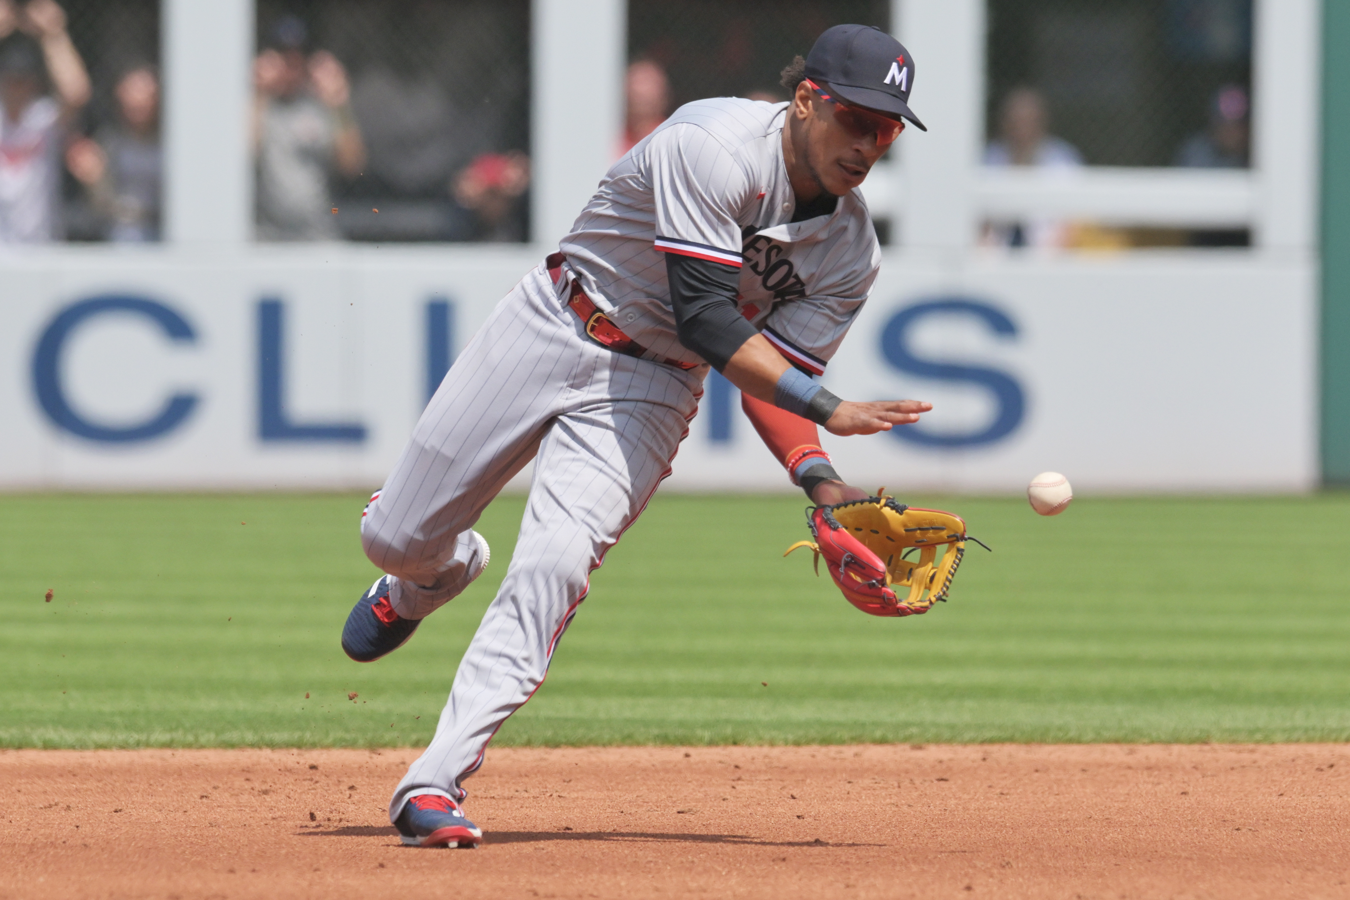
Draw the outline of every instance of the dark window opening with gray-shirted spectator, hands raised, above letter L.
<instances>
[{"instance_id":1,"label":"dark window opening with gray-shirted spectator, hands raised, above letter L","mask_svg":"<svg viewBox=\"0 0 1350 900\"><path fill-rule=\"evenodd\" d=\"M259 240L529 240L529 0L259 0Z\"/></svg>"}]
</instances>

